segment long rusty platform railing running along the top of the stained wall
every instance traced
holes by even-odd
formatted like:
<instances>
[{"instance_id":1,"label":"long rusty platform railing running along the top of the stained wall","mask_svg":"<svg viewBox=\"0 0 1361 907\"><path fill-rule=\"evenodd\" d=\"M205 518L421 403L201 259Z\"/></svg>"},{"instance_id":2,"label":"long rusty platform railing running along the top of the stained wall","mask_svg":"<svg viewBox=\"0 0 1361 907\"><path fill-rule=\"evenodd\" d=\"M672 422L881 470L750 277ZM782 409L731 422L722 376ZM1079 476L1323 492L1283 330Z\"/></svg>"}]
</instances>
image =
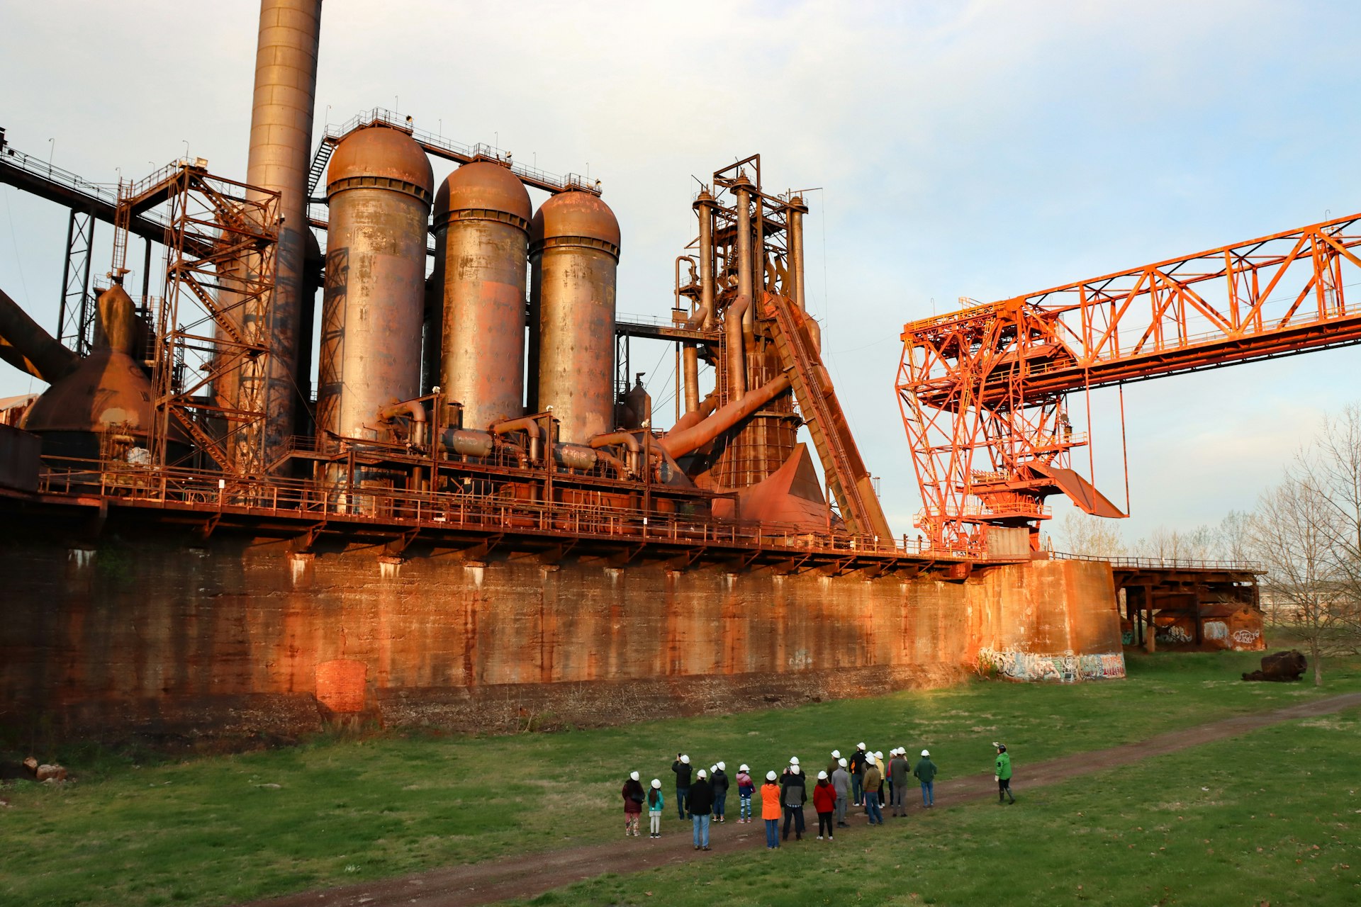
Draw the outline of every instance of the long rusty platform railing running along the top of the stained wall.
<instances>
[{"instance_id":1,"label":"long rusty platform railing running along the top of the stained wall","mask_svg":"<svg viewBox=\"0 0 1361 907\"><path fill-rule=\"evenodd\" d=\"M56 460L41 476L52 495L102 496L128 504L211 514L316 517L395 528L523 530L637 543L787 548L791 553L938 558L921 538L876 538L844 532L808 532L774 522L691 518L627 507L498 498L474 492L408 492L346 483L230 476L191 469L133 466L122 461Z\"/></svg>"}]
</instances>

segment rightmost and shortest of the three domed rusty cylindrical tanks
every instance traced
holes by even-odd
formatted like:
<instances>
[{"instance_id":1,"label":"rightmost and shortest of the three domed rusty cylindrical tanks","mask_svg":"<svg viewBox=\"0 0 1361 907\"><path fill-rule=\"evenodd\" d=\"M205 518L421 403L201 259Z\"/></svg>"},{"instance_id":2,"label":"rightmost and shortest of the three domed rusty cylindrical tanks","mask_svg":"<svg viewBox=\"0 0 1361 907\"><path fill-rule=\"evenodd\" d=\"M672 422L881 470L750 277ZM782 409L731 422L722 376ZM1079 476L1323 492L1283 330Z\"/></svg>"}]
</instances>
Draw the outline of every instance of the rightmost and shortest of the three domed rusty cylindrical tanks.
<instances>
[{"instance_id":1,"label":"rightmost and shortest of the three domed rusty cylindrical tanks","mask_svg":"<svg viewBox=\"0 0 1361 907\"><path fill-rule=\"evenodd\" d=\"M614 426L614 291L619 222L599 197L563 192L529 227L531 340L538 409L553 407L562 443Z\"/></svg>"}]
</instances>

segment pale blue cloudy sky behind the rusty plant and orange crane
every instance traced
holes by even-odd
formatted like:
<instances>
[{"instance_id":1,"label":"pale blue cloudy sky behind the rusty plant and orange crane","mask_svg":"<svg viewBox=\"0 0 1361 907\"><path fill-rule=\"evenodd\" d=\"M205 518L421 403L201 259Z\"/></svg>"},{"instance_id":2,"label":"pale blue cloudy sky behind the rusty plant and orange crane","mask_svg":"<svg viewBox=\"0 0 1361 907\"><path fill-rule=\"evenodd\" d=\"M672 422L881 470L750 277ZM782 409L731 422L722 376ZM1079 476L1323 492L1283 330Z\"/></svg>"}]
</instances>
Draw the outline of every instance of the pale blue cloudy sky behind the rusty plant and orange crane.
<instances>
[{"instance_id":1,"label":"pale blue cloudy sky behind the rusty plant and orange crane","mask_svg":"<svg viewBox=\"0 0 1361 907\"><path fill-rule=\"evenodd\" d=\"M208 5L0 1L10 141L113 181L186 140L241 175L257 5ZM825 186L810 307L901 533L904 321L1361 209L1357 34L1353 3L327 0L317 120L399 103L548 170L589 165L623 230L623 313L670 306L691 173L759 151L768 188ZM0 287L52 325L65 212L11 188L0 208ZM1358 367L1345 349L1128 388L1126 533L1251 507L1361 397ZM649 375L659 409L670 371ZM0 366L0 396L29 386ZM1093 403L1097 484L1123 502L1115 392Z\"/></svg>"}]
</instances>

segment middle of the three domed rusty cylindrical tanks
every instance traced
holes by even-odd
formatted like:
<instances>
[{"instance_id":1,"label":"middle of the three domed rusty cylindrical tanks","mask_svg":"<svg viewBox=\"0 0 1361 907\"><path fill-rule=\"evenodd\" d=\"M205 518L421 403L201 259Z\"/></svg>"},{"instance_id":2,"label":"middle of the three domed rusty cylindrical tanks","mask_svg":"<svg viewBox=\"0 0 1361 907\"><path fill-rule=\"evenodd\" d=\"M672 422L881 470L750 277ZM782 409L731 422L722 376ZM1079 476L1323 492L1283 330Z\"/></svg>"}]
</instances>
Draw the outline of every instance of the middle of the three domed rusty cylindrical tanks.
<instances>
[{"instance_id":1,"label":"middle of the three domed rusty cylindrical tanks","mask_svg":"<svg viewBox=\"0 0 1361 907\"><path fill-rule=\"evenodd\" d=\"M524 286L529 193L490 160L449 174L434 201L436 272L444 273L440 385L463 427L524 415Z\"/></svg>"}]
</instances>

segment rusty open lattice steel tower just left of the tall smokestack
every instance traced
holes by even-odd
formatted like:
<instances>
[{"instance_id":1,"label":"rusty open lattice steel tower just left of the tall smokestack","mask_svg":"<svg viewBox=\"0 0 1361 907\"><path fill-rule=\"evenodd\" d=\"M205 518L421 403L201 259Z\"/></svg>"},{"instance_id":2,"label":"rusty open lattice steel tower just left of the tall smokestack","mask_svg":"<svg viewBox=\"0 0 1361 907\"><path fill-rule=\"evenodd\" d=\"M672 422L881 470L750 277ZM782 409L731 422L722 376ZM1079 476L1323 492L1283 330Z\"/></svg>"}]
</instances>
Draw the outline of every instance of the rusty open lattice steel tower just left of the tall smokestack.
<instances>
[{"instance_id":1,"label":"rusty open lattice steel tower just left of the tall smokestack","mask_svg":"<svg viewBox=\"0 0 1361 907\"><path fill-rule=\"evenodd\" d=\"M114 273L128 224L154 208L163 209L169 226L165 301L154 313L151 460L157 466L181 465L191 454L174 439L188 435L219 469L257 475L267 465L264 330L275 286L279 194L215 177L203 162L188 160L120 186ZM235 405L208 393L230 373L241 386Z\"/></svg>"}]
</instances>

